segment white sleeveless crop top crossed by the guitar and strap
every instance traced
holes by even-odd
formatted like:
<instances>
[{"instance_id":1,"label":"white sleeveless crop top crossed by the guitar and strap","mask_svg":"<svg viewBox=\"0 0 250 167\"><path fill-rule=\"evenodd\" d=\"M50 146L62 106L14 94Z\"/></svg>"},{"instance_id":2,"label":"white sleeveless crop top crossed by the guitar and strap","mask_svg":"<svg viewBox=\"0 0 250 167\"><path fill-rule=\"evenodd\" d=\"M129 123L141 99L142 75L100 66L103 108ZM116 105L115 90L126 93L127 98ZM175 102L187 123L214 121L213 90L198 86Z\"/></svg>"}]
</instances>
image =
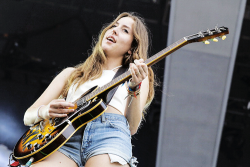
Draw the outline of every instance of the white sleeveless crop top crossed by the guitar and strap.
<instances>
[{"instance_id":1,"label":"white sleeveless crop top crossed by the guitar and strap","mask_svg":"<svg viewBox=\"0 0 250 167\"><path fill-rule=\"evenodd\" d=\"M83 93L85 93L87 90L92 88L93 86L98 85L99 87L105 85L106 83L110 82L115 75L115 72L113 70L103 70L102 76L100 78L97 78L95 80L89 80L79 86L79 88L76 89L76 84L72 84L69 88L68 95L66 98L67 102L74 102L77 100ZM110 101L109 105L119 110L123 115L125 112L125 106L127 103L127 89L125 84L121 84L118 89L116 90L112 100Z\"/></svg>"}]
</instances>

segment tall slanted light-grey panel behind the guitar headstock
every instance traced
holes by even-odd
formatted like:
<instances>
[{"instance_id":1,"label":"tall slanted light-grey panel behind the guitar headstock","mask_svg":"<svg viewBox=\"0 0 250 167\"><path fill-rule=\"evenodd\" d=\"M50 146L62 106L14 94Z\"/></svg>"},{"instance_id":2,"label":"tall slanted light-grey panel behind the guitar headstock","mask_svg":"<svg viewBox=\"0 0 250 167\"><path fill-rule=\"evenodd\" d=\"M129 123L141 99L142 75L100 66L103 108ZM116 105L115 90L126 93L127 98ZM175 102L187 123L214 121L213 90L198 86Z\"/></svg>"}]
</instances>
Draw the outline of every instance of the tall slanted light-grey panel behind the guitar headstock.
<instances>
[{"instance_id":1,"label":"tall slanted light-grey panel behind the guitar headstock","mask_svg":"<svg viewBox=\"0 0 250 167\"><path fill-rule=\"evenodd\" d=\"M245 4L171 1L168 44L214 24L227 25L230 35L225 42L188 45L166 58L156 167L216 166Z\"/></svg>"}]
</instances>

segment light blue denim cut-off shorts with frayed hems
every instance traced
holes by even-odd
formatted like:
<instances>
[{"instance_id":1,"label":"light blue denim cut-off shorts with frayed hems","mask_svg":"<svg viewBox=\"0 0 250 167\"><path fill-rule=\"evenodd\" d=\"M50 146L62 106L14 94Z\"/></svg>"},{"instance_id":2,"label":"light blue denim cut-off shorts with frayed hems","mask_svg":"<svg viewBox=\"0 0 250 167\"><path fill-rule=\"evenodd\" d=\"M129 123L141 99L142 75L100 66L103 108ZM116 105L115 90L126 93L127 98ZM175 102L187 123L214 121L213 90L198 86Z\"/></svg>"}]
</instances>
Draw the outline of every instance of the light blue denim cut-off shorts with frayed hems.
<instances>
[{"instance_id":1,"label":"light blue denim cut-off shorts with frayed hems","mask_svg":"<svg viewBox=\"0 0 250 167\"><path fill-rule=\"evenodd\" d=\"M82 134L84 135L82 136ZM99 154L114 154L122 157L130 166L134 166L129 124L123 115L104 113L80 128L60 149L78 167Z\"/></svg>"}]
</instances>

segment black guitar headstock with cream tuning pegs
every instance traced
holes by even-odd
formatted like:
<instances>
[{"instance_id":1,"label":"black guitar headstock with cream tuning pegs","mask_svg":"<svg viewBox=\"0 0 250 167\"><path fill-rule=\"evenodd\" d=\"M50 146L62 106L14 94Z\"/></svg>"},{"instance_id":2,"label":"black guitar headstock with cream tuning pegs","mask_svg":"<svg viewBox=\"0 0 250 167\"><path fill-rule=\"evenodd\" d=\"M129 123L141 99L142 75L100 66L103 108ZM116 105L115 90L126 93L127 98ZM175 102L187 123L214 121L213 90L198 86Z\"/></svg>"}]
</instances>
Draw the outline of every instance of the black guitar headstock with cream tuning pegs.
<instances>
[{"instance_id":1,"label":"black guitar headstock with cream tuning pegs","mask_svg":"<svg viewBox=\"0 0 250 167\"><path fill-rule=\"evenodd\" d=\"M208 29L207 31L200 31L197 34L189 35L184 37L187 42L204 42L205 44L209 44L210 42L208 39L211 39L214 42L218 42L217 37L221 38L222 40L226 39L226 34L228 34L227 27L215 27L214 29Z\"/></svg>"}]
</instances>

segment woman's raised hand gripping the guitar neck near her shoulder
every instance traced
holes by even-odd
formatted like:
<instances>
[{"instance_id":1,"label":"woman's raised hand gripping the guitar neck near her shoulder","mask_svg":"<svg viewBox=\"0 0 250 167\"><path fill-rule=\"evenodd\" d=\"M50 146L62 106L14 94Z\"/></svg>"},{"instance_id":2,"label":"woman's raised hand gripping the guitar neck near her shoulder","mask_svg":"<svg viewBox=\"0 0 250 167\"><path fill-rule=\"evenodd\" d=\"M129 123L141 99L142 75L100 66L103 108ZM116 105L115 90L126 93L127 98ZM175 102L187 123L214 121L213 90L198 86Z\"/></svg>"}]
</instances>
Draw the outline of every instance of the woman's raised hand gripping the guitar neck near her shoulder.
<instances>
[{"instance_id":1,"label":"woman's raised hand gripping the guitar neck near her shoulder","mask_svg":"<svg viewBox=\"0 0 250 167\"><path fill-rule=\"evenodd\" d=\"M139 85L148 76L148 66L144 63L143 59L136 59L134 63L130 63L130 71L132 80L129 86L131 88Z\"/></svg>"}]
</instances>

